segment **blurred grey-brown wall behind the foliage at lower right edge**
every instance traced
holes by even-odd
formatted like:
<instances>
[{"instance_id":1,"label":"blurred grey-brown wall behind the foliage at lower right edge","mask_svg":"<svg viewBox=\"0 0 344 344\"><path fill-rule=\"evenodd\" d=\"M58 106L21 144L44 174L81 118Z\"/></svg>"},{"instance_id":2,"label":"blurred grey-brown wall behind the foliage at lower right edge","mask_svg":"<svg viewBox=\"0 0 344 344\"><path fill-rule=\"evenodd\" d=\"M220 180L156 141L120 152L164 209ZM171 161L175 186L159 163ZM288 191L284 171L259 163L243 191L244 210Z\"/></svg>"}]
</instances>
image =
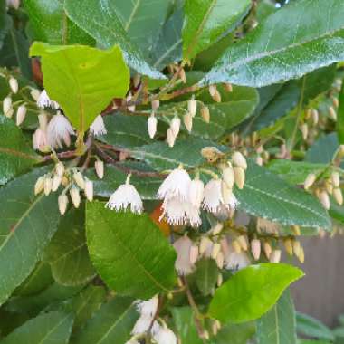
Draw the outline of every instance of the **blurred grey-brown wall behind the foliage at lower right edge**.
<instances>
[{"instance_id":1,"label":"blurred grey-brown wall behind the foliage at lower right edge","mask_svg":"<svg viewBox=\"0 0 344 344\"><path fill-rule=\"evenodd\" d=\"M344 313L344 236L306 238L302 245L306 276L291 288L296 310L332 327Z\"/></svg>"}]
</instances>

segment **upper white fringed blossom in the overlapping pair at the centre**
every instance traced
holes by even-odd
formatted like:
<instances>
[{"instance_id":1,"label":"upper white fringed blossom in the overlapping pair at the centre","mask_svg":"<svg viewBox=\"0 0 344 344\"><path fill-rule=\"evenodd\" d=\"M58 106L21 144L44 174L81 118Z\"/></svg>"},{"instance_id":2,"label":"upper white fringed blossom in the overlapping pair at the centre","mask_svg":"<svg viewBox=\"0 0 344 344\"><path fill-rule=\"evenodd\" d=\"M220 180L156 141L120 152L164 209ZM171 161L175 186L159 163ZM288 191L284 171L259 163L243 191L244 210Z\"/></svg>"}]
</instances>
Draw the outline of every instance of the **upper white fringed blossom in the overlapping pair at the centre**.
<instances>
[{"instance_id":1,"label":"upper white fringed blossom in the overlapping pair at the centre","mask_svg":"<svg viewBox=\"0 0 344 344\"><path fill-rule=\"evenodd\" d=\"M158 198L177 197L182 201L188 200L191 178L182 167L174 169L162 182L158 189Z\"/></svg>"}]
</instances>

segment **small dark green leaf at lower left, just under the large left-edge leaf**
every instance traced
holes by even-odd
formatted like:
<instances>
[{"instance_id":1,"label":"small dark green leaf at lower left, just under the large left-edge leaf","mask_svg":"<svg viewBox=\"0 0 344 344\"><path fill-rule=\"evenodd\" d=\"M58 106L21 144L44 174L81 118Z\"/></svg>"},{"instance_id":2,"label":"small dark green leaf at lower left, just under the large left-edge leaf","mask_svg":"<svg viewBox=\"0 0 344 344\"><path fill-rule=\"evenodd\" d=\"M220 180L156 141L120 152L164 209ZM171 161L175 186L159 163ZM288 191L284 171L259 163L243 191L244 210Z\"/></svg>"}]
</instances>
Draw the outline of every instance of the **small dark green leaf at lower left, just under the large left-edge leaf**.
<instances>
[{"instance_id":1,"label":"small dark green leaf at lower left, just under the large left-edge leaf","mask_svg":"<svg viewBox=\"0 0 344 344\"><path fill-rule=\"evenodd\" d=\"M15 295L37 294L53 283L52 269L48 263L39 262L30 276L14 291Z\"/></svg>"}]
</instances>

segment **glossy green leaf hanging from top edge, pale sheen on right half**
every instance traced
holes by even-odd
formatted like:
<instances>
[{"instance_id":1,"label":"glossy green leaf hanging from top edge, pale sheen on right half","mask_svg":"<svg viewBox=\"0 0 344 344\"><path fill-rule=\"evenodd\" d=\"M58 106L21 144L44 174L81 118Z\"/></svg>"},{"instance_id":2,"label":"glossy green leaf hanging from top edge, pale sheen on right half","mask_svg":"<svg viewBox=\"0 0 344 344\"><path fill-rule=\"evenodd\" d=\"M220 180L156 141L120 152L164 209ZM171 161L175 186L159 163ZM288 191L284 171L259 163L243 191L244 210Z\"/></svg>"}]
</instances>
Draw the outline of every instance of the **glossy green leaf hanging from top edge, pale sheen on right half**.
<instances>
[{"instance_id":1,"label":"glossy green leaf hanging from top edge, pale sheen on right half","mask_svg":"<svg viewBox=\"0 0 344 344\"><path fill-rule=\"evenodd\" d=\"M247 14L249 0L186 0L183 56L190 60L234 29Z\"/></svg>"}]
</instances>

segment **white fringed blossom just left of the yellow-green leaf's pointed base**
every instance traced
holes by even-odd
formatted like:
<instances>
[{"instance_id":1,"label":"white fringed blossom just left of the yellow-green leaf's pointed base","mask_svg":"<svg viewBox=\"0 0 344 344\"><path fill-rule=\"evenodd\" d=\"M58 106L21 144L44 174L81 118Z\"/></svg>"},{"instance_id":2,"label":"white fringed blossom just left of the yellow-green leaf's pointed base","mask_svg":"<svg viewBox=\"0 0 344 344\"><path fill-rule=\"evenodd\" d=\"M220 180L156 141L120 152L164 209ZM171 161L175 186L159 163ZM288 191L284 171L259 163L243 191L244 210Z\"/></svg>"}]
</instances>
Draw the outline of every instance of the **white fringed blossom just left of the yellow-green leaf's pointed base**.
<instances>
[{"instance_id":1,"label":"white fringed blossom just left of the yellow-green leaf's pointed base","mask_svg":"<svg viewBox=\"0 0 344 344\"><path fill-rule=\"evenodd\" d=\"M66 146L71 145L71 135L75 135L72 125L61 112L50 120L47 128L48 143L52 148L62 148L62 140Z\"/></svg>"}]
</instances>

